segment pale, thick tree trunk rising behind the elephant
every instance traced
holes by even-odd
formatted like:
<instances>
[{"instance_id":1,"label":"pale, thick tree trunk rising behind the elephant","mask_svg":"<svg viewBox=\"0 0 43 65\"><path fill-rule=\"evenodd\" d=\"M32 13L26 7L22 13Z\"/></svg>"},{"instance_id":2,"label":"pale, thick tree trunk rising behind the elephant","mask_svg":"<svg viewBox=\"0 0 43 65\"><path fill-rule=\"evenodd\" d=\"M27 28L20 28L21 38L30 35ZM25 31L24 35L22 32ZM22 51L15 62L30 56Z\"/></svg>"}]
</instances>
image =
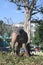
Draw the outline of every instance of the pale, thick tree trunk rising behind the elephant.
<instances>
[{"instance_id":1,"label":"pale, thick tree trunk rising behind the elephant","mask_svg":"<svg viewBox=\"0 0 43 65\"><path fill-rule=\"evenodd\" d=\"M28 34L28 43L30 43L30 10L28 7L25 7L25 22L24 22L24 30Z\"/></svg>"}]
</instances>

